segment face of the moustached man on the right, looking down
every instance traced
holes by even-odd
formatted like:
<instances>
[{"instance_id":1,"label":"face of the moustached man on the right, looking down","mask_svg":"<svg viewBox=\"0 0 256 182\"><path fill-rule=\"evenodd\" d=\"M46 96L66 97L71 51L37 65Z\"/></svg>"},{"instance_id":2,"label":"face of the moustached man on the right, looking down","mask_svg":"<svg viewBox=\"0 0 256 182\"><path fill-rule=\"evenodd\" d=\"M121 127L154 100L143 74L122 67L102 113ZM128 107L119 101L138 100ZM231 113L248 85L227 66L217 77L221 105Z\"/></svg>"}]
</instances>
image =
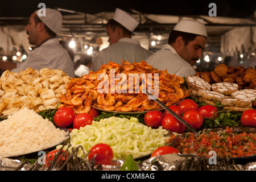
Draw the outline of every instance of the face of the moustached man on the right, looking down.
<instances>
[{"instance_id":1,"label":"face of the moustached man on the right, looking down","mask_svg":"<svg viewBox=\"0 0 256 182\"><path fill-rule=\"evenodd\" d=\"M204 36L196 36L196 38L189 42L187 45L185 45L185 42L183 41L183 44L181 45L177 53L185 61L193 65L196 63L197 60L200 59L200 57L202 57L202 51L206 42L207 39L205 39Z\"/></svg>"}]
</instances>

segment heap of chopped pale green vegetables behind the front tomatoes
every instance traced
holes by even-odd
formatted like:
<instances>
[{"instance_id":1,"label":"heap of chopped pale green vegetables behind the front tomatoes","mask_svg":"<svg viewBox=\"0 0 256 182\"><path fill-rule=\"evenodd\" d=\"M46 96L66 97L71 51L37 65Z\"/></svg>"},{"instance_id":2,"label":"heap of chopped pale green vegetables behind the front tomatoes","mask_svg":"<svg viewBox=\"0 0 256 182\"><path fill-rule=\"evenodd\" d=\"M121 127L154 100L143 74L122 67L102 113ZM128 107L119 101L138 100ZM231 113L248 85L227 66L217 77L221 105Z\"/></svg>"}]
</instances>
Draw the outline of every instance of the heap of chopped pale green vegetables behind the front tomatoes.
<instances>
[{"instance_id":1,"label":"heap of chopped pale green vegetables behind the front tomatoes","mask_svg":"<svg viewBox=\"0 0 256 182\"><path fill-rule=\"evenodd\" d=\"M82 146L84 152L79 152L79 157L84 157L88 154L90 148L98 143L105 143L112 147L115 159L126 159L127 156L133 155L134 158L139 158L144 155L151 154L156 148L164 146L169 138L168 130L152 129L143 125L138 121L138 118L131 117L119 118L109 117L93 121L92 125L80 127L79 130L73 129L71 132L70 142L65 146L59 145L57 148L63 147L69 150L73 147Z\"/></svg>"}]
</instances>

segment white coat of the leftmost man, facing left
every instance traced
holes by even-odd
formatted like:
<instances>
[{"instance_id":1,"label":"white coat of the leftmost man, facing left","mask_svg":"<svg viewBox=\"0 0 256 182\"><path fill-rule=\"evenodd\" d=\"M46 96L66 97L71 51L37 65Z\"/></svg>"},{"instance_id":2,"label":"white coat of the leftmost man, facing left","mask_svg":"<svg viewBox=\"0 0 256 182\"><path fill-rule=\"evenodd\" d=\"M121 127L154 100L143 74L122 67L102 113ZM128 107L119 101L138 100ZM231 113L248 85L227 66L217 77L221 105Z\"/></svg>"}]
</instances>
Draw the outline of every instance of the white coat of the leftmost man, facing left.
<instances>
[{"instance_id":1,"label":"white coat of the leftmost man, facing left","mask_svg":"<svg viewBox=\"0 0 256 182\"><path fill-rule=\"evenodd\" d=\"M37 70L42 68L61 69L70 77L75 78L75 68L71 57L57 38L48 39L39 47L28 52L27 60L17 63L16 68L11 71L19 72L28 67Z\"/></svg>"}]
</instances>

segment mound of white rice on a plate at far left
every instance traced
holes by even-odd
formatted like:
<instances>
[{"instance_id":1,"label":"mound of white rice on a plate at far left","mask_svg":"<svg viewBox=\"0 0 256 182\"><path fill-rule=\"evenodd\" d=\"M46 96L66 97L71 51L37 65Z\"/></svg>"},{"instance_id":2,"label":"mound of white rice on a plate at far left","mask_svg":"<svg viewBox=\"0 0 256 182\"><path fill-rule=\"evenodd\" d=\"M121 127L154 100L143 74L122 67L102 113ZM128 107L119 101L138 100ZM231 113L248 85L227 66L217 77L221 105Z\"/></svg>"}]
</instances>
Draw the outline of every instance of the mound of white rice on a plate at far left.
<instances>
[{"instance_id":1,"label":"mound of white rice on a plate at far left","mask_svg":"<svg viewBox=\"0 0 256 182\"><path fill-rule=\"evenodd\" d=\"M24 108L0 122L0 156L18 156L44 150L63 142L68 132Z\"/></svg>"}]
</instances>

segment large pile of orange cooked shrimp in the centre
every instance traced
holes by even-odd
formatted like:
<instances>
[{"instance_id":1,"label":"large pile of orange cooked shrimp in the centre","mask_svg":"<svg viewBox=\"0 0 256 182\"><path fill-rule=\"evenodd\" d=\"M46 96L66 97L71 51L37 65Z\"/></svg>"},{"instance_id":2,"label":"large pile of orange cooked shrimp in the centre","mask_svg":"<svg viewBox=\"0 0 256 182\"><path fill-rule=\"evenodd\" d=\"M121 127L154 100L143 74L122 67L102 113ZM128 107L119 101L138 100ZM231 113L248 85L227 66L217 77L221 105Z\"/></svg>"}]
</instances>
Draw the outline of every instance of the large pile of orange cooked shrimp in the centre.
<instances>
[{"instance_id":1,"label":"large pile of orange cooked shrimp in the centre","mask_svg":"<svg viewBox=\"0 0 256 182\"><path fill-rule=\"evenodd\" d=\"M126 114L161 110L142 90L147 89L170 106L189 96L189 90L181 86L183 83L182 77L155 69L143 60L141 63L122 60L122 65L109 61L96 72L72 78L67 92L59 97L60 107L70 107L75 114L89 113L91 107Z\"/></svg>"}]
</instances>

